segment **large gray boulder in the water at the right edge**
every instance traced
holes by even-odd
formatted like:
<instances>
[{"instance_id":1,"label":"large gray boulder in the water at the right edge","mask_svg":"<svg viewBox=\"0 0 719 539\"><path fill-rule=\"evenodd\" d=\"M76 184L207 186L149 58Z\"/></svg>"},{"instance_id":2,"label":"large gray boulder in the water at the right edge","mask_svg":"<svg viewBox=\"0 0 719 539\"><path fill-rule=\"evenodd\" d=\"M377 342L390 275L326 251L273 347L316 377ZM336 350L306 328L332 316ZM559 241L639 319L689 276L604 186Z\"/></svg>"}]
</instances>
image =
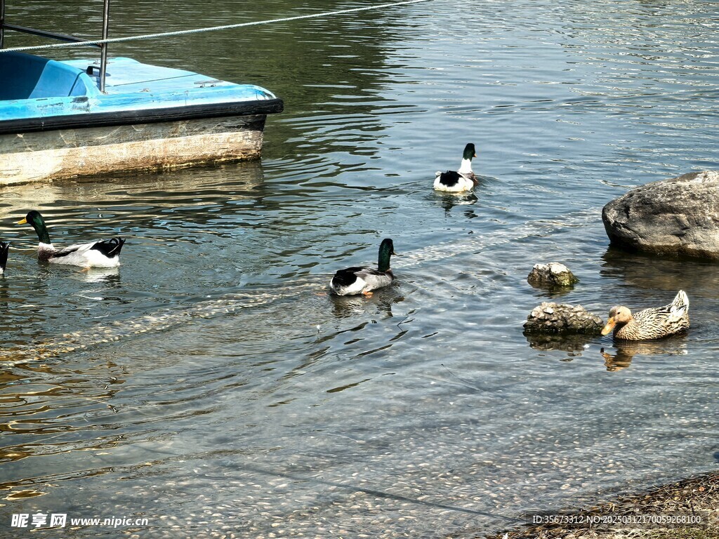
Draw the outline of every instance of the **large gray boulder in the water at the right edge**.
<instances>
[{"instance_id":1,"label":"large gray boulder in the water at the right edge","mask_svg":"<svg viewBox=\"0 0 719 539\"><path fill-rule=\"evenodd\" d=\"M719 259L719 172L642 185L604 206L602 220L615 246Z\"/></svg>"}]
</instances>

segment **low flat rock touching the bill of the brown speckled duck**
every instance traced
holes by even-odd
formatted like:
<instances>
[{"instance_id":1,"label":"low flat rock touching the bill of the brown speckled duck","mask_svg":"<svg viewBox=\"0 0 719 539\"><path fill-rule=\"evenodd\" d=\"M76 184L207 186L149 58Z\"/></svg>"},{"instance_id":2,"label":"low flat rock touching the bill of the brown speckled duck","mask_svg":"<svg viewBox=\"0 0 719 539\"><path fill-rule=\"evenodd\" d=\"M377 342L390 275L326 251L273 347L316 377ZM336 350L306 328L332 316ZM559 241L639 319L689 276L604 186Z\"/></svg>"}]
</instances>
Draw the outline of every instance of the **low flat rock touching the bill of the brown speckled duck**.
<instances>
[{"instance_id":1,"label":"low flat rock touching the bill of the brown speckled duck","mask_svg":"<svg viewBox=\"0 0 719 539\"><path fill-rule=\"evenodd\" d=\"M542 303L533 308L524 323L524 333L585 333L598 335L602 319L582 305Z\"/></svg>"}]
</instances>

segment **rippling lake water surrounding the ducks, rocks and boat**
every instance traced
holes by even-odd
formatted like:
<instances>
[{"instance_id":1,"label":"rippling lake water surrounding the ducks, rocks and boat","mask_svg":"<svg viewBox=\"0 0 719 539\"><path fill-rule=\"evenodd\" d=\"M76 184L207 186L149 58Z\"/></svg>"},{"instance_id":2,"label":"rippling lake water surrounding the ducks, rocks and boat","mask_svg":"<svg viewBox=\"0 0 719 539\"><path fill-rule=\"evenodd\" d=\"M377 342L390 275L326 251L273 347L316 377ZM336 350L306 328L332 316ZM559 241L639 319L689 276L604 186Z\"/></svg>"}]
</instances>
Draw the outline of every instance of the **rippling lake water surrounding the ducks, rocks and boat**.
<instances>
[{"instance_id":1,"label":"rippling lake water surrounding the ducks, rocks and boat","mask_svg":"<svg viewBox=\"0 0 719 539\"><path fill-rule=\"evenodd\" d=\"M101 2L22 4L9 22L99 34ZM115 4L114 36L357 5ZM75 538L478 538L715 470L717 267L610 250L600 212L717 168L717 20L702 0L437 0L112 46L285 112L261 162L0 190L4 536L42 512L148 519ZM467 142L475 195L434 193ZM127 237L122 266L38 264L14 225L31 208L58 244ZM397 284L330 297L385 237ZM581 282L530 287L550 261ZM606 318L679 289L687 336L522 333L544 300Z\"/></svg>"}]
</instances>

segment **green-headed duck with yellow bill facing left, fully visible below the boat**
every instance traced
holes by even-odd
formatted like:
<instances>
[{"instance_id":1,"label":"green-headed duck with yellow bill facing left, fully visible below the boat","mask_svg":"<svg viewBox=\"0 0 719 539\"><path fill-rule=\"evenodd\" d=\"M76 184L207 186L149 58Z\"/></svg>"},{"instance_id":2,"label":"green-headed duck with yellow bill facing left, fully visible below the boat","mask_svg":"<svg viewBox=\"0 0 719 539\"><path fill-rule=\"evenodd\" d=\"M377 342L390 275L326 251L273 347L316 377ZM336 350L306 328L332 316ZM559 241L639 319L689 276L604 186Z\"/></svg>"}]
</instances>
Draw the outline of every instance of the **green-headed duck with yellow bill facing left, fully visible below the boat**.
<instances>
[{"instance_id":1,"label":"green-headed duck with yellow bill facing left, fully visible below the boat","mask_svg":"<svg viewBox=\"0 0 719 539\"><path fill-rule=\"evenodd\" d=\"M26 223L32 225L37 233L37 238L40 239L40 245L37 246L37 259L42 262L82 267L116 267L120 264L120 250L125 243L122 238L91 241L87 244L76 244L57 249L50 243L50 234L47 234L45 220L39 211L30 211L17 224Z\"/></svg>"}]
</instances>

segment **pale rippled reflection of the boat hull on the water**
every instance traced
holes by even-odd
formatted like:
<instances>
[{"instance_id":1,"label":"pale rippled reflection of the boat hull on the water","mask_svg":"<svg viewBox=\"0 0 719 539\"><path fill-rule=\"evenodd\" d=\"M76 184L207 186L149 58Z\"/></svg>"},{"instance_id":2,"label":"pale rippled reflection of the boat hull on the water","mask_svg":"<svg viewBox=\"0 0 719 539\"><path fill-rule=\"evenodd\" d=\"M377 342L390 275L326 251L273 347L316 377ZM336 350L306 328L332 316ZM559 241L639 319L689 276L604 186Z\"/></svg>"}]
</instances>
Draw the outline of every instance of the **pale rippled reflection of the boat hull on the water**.
<instances>
[{"instance_id":1,"label":"pale rippled reflection of the boat hull on the water","mask_svg":"<svg viewBox=\"0 0 719 539\"><path fill-rule=\"evenodd\" d=\"M151 219L164 218L166 228L173 219L191 214L193 220L205 224L218 218L216 212L229 201L262 204L266 195L263 182L261 162L252 161L154 175L12 185L2 191L0 235L19 239L16 249L36 246L32 229L14 225L28 209L40 210L46 216L50 238L58 245L69 244L91 231L122 232L132 237L144 231ZM74 232L70 236L73 227L82 229L83 234Z\"/></svg>"}]
</instances>

